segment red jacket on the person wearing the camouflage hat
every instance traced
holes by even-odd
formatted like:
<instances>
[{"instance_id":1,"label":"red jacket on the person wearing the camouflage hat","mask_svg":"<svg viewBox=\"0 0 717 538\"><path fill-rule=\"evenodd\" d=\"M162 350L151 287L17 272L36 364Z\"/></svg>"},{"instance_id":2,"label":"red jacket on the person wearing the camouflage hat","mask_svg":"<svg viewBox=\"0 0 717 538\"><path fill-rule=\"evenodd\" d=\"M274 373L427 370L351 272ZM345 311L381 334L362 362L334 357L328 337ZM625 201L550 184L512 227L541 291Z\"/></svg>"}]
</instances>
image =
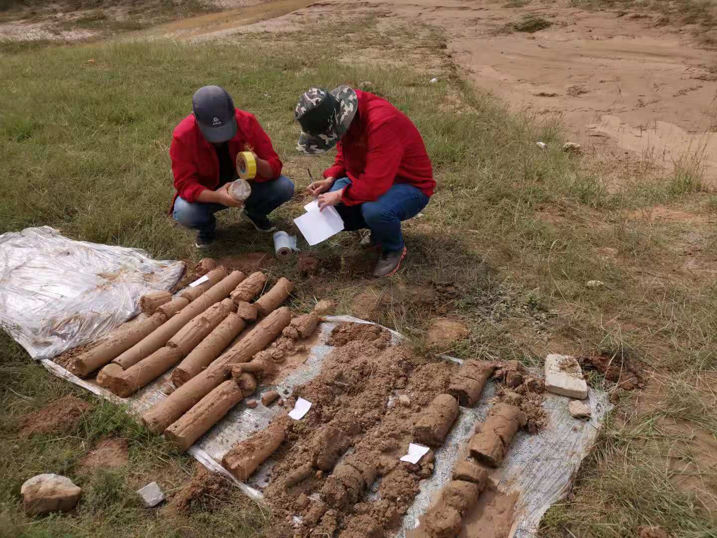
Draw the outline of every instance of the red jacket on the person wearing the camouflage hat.
<instances>
[{"instance_id":1,"label":"red jacket on the person wearing the camouflage hat","mask_svg":"<svg viewBox=\"0 0 717 538\"><path fill-rule=\"evenodd\" d=\"M359 113L336 148L336 161L324 177L348 176L341 201L346 205L373 202L394 183L414 185L427 196L436 187L431 160L421 133L388 101L356 90Z\"/></svg>"}]
</instances>

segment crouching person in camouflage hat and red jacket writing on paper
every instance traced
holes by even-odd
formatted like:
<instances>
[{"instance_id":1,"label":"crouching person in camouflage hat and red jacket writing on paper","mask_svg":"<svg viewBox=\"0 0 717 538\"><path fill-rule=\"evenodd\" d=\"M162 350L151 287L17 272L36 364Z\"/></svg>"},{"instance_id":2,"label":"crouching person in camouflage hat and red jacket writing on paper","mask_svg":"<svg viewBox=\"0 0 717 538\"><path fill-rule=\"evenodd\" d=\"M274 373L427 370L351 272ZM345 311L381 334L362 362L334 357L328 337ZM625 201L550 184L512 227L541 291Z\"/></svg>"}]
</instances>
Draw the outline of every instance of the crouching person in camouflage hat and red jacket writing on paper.
<instances>
[{"instance_id":1,"label":"crouching person in camouflage hat and red jacket writing on paper","mask_svg":"<svg viewBox=\"0 0 717 538\"><path fill-rule=\"evenodd\" d=\"M300 151L338 150L326 179L307 191L320 209L335 205L346 230L369 228L362 245L382 250L374 275L393 275L406 255L401 221L426 207L436 186L418 129L388 101L348 86L310 88L294 115Z\"/></svg>"}]
</instances>

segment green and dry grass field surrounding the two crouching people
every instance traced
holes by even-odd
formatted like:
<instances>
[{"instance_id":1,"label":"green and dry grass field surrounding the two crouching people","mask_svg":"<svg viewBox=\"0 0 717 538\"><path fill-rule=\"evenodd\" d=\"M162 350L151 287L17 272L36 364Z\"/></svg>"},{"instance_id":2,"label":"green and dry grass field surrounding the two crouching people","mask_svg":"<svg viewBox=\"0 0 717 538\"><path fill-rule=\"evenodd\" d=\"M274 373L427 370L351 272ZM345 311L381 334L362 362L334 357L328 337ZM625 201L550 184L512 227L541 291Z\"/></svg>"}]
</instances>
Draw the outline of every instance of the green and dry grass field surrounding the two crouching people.
<instances>
[{"instance_id":1,"label":"green and dry grass field surrounding the two crouching people","mask_svg":"<svg viewBox=\"0 0 717 538\"><path fill-rule=\"evenodd\" d=\"M300 92L343 83L371 90L417 124L437 194L424 216L407 224L409 257L397 278L368 280L349 234L313 251L326 268L320 278L272 268L297 281L294 306L328 297L351 311L369 294L376 301L367 317L412 336L417 346L429 318L450 313L471 329L447 350L462 358L538 364L550 350L639 361L650 372L644 395L591 374L592 384L619 402L569 500L546 514L541 532L617 538L660 525L676 537L715 536L717 467L709 455L717 440L711 412L717 288L685 270L679 250L691 245L706 253L717 243L717 199L703 191L695 166L657 177L626 168L622 187L609 187L601 169L561 151L559 123L509 113L469 87L441 52L430 52L440 66L431 75L405 61L376 67L375 52L366 62L338 60L377 44L381 57L396 59L417 49L440 51L437 34L386 32L371 19L343 24L341 34L326 24L322 29L341 35L327 38L333 57L306 47L294 53L312 29L229 44L105 42L3 55L0 233L51 225L81 240L194 260L193 235L167 216L173 190L167 151L196 88L223 85L237 106L257 115L298 193L309 182L306 169L317 175L332 158L295 151ZM432 76L440 81L430 84ZM303 203L297 194L278 212L279 222L289 225ZM652 220L657 210L693 220ZM222 215L220 226L225 233L210 252L217 258L270 246L239 225L236 214ZM593 279L605 287L587 288ZM417 291L437 283L457 290L441 311L415 300ZM248 537L270 521L269 511L237 491L206 494L184 511L141 509L133 490L158 476L179 489L193 472L189 459L171 453L118 407L93 402L31 364L4 336L0 357L6 410L0 534L103 537L121 528L128 536ZM68 393L95 403L77 430L19 438L28 412ZM129 439L130 464L87 476L82 458L103 435ZM64 473L85 488L77 514L22 514L19 486L38 472Z\"/></svg>"}]
</instances>

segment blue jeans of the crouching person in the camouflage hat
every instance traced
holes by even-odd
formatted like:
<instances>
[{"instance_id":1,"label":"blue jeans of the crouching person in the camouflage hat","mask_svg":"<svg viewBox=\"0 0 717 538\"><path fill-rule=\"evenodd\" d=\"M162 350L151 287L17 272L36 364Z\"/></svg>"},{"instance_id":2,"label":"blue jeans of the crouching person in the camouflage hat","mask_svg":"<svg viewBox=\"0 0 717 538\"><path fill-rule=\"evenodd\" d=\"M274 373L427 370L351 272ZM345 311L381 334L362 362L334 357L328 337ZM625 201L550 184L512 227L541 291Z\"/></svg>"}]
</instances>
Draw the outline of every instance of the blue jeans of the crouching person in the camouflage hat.
<instances>
[{"instance_id":1,"label":"blue jeans of the crouching person in the camouflage hat","mask_svg":"<svg viewBox=\"0 0 717 538\"><path fill-rule=\"evenodd\" d=\"M351 179L344 177L334 181L329 190L338 191L350 184ZM403 250L405 246L401 221L419 214L429 199L413 185L394 183L388 192L375 202L358 205L337 204L336 211L343 219L345 230L351 232L369 228L384 252L390 252Z\"/></svg>"}]
</instances>

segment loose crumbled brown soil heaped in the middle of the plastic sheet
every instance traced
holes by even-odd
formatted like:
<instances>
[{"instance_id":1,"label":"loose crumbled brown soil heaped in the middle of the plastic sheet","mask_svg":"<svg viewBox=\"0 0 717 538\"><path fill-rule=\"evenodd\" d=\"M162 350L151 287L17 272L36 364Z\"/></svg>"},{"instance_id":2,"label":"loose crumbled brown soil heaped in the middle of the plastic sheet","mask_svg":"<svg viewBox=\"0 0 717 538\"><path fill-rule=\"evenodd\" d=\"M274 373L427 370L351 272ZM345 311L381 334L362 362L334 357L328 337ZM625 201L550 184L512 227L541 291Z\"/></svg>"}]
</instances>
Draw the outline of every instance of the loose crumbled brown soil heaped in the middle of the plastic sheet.
<instances>
[{"instance_id":1,"label":"loose crumbled brown soil heaped in the middle of the plastic sheet","mask_svg":"<svg viewBox=\"0 0 717 538\"><path fill-rule=\"evenodd\" d=\"M304 516L302 537L320 530L340 530L342 537L384 536L383 529L399 524L420 478L432 472L430 458L415 466L398 458L414 440L415 420L435 396L445 392L457 365L425 363L405 346L386 349L389 333L372 327L337 326L332 341L338 347L325 359L320 374L297 387L288 400L288 407L299 396L313 405L302 420L290 421L287 440L274 455L274 479L264 494L273 506ZM356 340L348 341L346 336ZM389 407L389 397L399 395L409 396L409 405ZM328 447L336 439L341 443ZM351 456L333 468L336 458L351 448ZM285 477L307 463L314 472L286 487ZM365 502L376 477L381 500ZM307 504L307 496L313 494L332 506L320 501Z\"/></svg>"}]
</instances>

